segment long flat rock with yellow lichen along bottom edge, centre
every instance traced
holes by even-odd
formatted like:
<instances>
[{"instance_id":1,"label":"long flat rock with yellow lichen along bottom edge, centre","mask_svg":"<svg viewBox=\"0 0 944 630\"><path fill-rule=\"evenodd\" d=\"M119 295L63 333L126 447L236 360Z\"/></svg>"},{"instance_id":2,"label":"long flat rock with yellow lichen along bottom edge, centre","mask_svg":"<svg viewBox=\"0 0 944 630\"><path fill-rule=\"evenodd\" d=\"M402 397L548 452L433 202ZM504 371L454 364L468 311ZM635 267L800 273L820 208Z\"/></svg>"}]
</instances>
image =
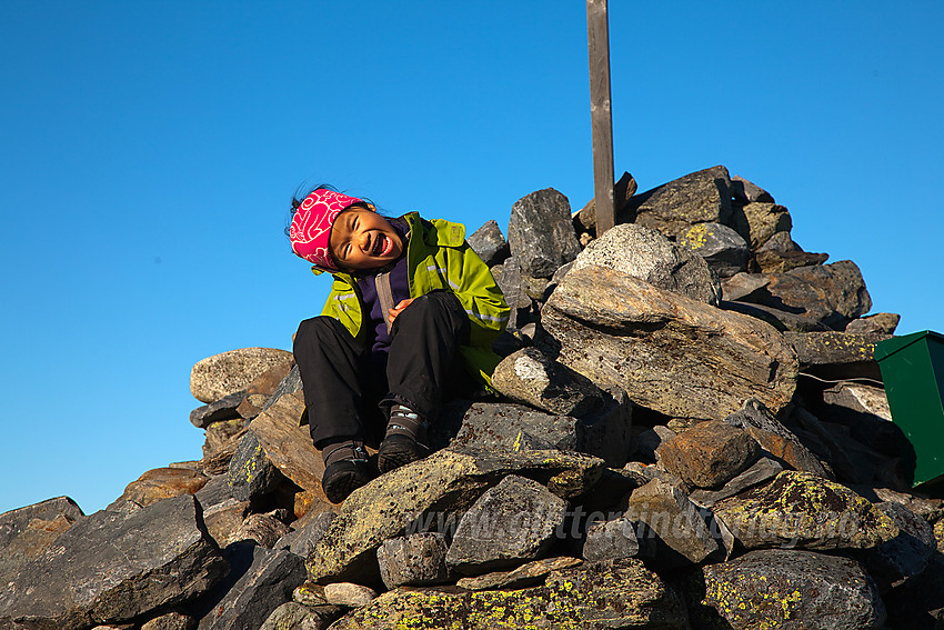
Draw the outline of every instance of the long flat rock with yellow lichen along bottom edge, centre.
<instances>
[{"instance_id":1,"label":"long flat rock with yellow lichen along bottom edge, centre","mask_svg":"<svg viewBox=\"0 0 944 630\"><path fill-rule=\"evenodd\" d=\"M604 630L687 628L681 598L635 559L553 571L544 586L522 590L384 593L340 619L332 630Z\"/></svg>"}]
</instances>

